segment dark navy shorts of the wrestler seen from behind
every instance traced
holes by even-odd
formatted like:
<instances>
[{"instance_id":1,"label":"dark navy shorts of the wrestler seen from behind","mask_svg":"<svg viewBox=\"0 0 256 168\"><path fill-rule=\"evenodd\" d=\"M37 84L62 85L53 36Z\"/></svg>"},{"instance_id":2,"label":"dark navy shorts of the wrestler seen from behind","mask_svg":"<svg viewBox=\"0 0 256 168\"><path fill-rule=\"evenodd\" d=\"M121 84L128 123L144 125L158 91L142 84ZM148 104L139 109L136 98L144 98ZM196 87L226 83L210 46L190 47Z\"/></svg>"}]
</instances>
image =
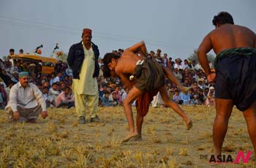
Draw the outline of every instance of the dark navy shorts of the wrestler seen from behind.
<instances>
[{"instance_id":1,"label":"dark navy shorts of the wrestler seen from behind","mask_svg":"<svg viewBox=\"0 0 256 168\"><path fill-rule=\"evenodd\" d=\"M233 99L245 111L256 101L256 53L223 56L216 64L215 97Z\"/></svg>"}]
</instances>

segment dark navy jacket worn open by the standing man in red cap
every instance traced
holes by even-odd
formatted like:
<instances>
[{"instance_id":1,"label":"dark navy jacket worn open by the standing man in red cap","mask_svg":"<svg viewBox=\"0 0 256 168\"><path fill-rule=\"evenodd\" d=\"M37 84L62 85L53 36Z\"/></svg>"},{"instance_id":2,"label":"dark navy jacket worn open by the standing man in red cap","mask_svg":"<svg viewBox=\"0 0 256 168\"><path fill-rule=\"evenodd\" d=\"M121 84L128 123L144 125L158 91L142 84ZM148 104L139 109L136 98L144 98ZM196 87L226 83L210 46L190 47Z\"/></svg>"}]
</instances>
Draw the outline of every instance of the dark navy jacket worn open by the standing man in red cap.
<instances>
[{"instance_id":1,"label":"dark navy jacket worn open by the standing man in red cap","mask_svg":"<svg viewBox=\"0 0 256 168\"><path fill-rule=\"evenodd\" d=\"M91 45L92 45L92 50L94 50L94 56L95 56L95 69L94 69L93 77L98 77L99 76L99 64L98 64L99 48L97 45L94 45L93 42L91 42ZM69 48L69 55L67 56L67 63L69 64L70 69L72 69L74 79L80 79L79 74L83 64L83 59L84 59L84 52L83 52L83 45L81 41L75 45L72 45Z\"/></svg>"}]
</instances>

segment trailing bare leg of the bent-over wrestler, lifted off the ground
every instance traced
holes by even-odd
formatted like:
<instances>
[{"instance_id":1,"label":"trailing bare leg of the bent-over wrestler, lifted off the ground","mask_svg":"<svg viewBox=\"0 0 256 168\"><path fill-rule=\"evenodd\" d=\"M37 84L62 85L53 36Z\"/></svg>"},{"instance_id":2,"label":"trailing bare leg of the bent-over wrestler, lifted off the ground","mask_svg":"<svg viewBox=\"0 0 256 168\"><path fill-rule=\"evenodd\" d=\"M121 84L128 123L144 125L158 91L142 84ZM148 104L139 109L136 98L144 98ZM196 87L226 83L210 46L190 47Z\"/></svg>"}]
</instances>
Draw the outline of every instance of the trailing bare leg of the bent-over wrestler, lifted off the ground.
<instances>
[{"instance_id":1,"label":"trailing bare leg of the bent-over wrestler, lifted off the ground","mask_svg":"<svg viewBox=\"0 0 256 168\"><path fill-rule=\"evenodd\" d=\"M165 105L172 108L178 115L181 115L181 117L184 119L184 121L186 123L187 129L191 129L192 128L191 119L185 114L185 112L183 110L181 110L181 107L179 107L178 104L176 104L175 102L170 101L170 99L168 99L167 91L165 89L165 86L162 86L159 89L159 92L162 96L162 100L165 103Z\"/></svg>"}]
</instances>

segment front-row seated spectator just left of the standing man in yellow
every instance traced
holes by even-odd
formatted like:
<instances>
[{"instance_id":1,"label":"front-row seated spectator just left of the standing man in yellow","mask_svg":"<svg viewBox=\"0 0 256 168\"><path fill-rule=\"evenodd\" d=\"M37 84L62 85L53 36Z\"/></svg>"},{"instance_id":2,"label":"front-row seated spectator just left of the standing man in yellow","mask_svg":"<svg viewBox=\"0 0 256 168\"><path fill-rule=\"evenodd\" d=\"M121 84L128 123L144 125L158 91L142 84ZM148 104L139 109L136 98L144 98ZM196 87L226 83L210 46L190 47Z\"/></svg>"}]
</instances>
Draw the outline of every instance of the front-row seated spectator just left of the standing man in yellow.
<instances>
[{"instance_id":1,"label":"front-row seated spectator just left of the standing man in yellow","mask_svg":"<svg viewBox=\"0 0 256 168\"><path fill-rule=\"evenodd\" d=\"M74 95L70 92L70 88L67 86L64 92L60 93L56 100L56 107L75 107Z\"/></svg>"}]
</instances>

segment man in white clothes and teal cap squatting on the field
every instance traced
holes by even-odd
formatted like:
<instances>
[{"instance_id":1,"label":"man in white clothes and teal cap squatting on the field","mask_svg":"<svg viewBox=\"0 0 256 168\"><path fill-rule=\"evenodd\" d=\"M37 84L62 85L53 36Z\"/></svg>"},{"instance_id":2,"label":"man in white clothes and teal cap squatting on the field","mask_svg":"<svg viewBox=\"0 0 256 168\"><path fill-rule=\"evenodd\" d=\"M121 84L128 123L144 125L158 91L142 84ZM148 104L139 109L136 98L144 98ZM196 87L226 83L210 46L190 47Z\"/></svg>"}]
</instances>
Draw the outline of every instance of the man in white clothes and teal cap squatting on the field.
<instances>
[{"instance_id":1,"label":"man in white clothes and teal cap squatting on the field","mask_svg":"<svg viewBox=\"0 0 256 168\"><path fill-rule=\"evenodd\" d=\"M19 82L11 88L5 111L10 121L35 123L40 113L42 118L48 116L42 93L36 85L29 83L28 72L19 73Z\"/></svg>"}]
</instances>

